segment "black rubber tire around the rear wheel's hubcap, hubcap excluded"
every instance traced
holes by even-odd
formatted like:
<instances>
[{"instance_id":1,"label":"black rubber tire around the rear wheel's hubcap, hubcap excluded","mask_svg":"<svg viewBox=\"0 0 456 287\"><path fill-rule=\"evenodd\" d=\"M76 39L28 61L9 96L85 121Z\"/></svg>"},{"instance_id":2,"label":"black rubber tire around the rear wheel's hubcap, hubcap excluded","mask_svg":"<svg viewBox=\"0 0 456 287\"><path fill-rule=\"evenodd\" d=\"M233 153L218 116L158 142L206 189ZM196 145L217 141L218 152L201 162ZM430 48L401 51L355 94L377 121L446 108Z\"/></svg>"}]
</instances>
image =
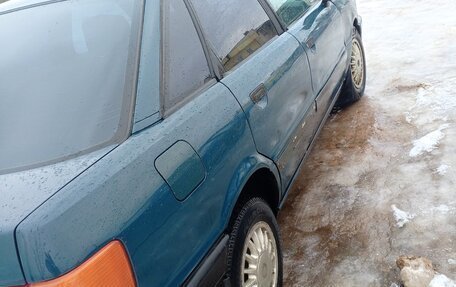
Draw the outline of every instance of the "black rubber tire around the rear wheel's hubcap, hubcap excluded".
<instances>
[{"instance_id":1,"label":"black rubber tire around the rear wheel's hubcap, hubcap excluded","mask_svg":"<svg viewBox=\"0 0 456 287\"><path fill-rule=\"evenodd\" d=\"M254 198L248 201L237 215L230 235L228 244L228 275L231 286L233 287L242 286L240 270L241 264L243 264L242 253L244 251L244 242L250 229L260 221L267 223L274 234L278 259L277 286L282 286L282 248L277 221L269 206L262 199Z\"/></svg>"}]
</instances>

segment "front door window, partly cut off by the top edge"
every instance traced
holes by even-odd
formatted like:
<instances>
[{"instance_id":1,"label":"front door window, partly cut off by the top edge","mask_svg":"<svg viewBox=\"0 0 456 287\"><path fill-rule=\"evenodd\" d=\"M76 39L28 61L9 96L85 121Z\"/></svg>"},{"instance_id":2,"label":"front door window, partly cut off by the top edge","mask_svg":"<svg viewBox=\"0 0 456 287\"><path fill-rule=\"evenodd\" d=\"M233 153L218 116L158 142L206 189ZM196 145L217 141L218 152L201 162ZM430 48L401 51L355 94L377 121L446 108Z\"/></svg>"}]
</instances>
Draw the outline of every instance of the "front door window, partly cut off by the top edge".
<instances>
[{"instance_id":1,"label":"front door window, partly cut off by the top edge","mask_svg":"<svg viewBox=\"0 0 456 287\"><path fill-rule=\"evenodd\" d=\"M287 27L301 17L316 0L268 0Z\"/></svg>"}]
</instances>

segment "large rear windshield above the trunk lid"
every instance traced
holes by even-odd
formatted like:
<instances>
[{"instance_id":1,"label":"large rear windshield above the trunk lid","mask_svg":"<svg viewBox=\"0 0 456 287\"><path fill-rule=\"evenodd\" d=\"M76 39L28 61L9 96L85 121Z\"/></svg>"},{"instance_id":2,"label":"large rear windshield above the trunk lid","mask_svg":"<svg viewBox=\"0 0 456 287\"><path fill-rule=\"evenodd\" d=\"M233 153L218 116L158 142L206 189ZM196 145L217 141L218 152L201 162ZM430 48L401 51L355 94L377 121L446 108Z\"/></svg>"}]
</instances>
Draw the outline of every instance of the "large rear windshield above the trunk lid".
<instances>
[{"instance_id":1,"label":"large rear windshield above the trunk lid","mask_svg":"<svg viewBox=\"0 0 456 287\"><path fill-rule=\"evenodd\" d=\"M45 2L0 13L0 173L127 136L140 2Z\"/></svg>"}]
</instances>

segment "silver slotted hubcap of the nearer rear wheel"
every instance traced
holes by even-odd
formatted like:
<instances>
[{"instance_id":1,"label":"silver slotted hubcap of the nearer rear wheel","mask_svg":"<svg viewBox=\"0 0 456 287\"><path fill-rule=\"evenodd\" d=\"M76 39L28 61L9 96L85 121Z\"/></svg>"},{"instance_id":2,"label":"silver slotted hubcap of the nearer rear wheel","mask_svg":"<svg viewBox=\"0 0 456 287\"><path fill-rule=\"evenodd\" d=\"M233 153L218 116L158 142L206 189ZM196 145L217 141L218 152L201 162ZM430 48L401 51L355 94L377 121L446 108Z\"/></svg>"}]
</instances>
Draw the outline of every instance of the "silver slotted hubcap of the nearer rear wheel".
<instances>
[{"instance_id":1,"label":"silver slotted hubcap of the nearer rear wheel","mask_svg":"<svg viewBox=\"0 0 456 287\"><path fill-rule=\"evenodd\" d=\"M277 243L267 223L260 221L249 230L242 254L242 286L277 286Z\"/></svg>"}]
</instances>

